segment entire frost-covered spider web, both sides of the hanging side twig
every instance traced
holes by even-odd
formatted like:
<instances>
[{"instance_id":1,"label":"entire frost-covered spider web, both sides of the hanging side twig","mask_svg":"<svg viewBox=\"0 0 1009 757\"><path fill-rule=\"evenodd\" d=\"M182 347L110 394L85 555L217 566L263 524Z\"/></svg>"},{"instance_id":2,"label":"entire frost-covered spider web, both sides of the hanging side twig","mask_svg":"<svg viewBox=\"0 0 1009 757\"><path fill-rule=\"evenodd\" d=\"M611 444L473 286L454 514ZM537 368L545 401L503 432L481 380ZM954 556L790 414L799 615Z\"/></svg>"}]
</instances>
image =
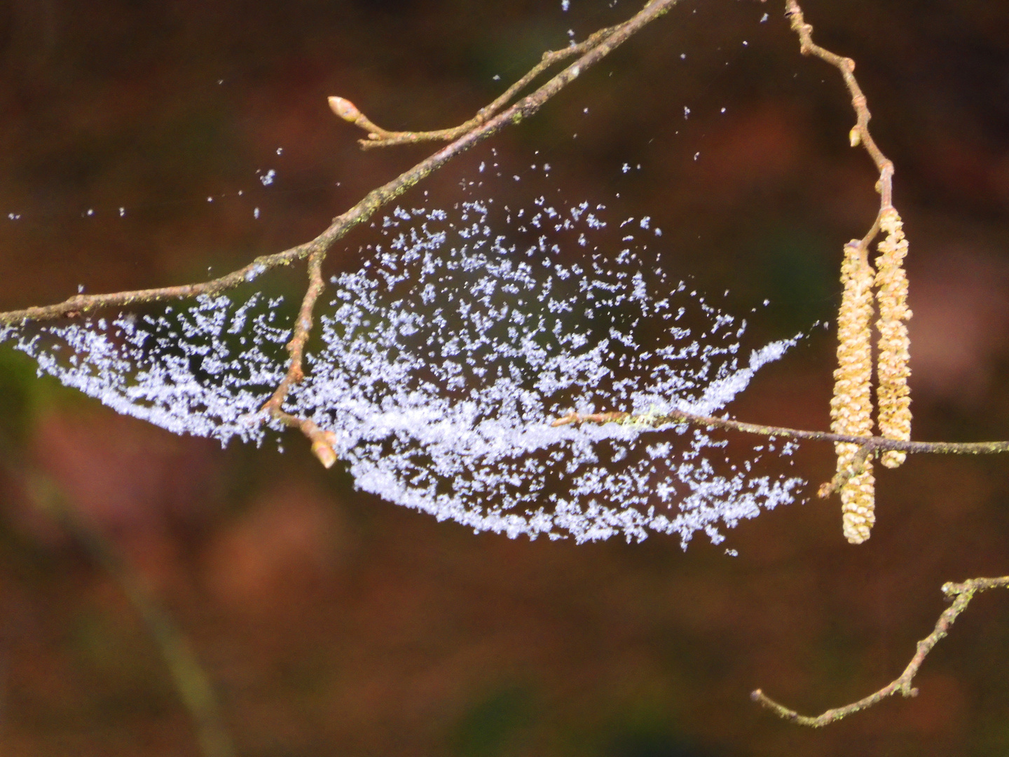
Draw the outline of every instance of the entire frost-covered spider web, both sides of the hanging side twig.
<instances>
[{"instance_id":1,"label":"entire frost-covered spider web, both sides of the hanging side twig","mask_svg":"<svg viewBox=\"0 0 1009 757\"><path fill-rule=\"evenodd\" d=\"M717 543L719 527L791 502L802 481L758 472L763 447L731 451L686 426L551 426L571 410L713 414L794 343L744 353L745 322L639 255L658 233L649 219L603 218L543 198L397 208L363 266L331 280L285 410L335 434L358 488L510 537L660 532L685 545L702 530ZM259 443L281 430L259 413L286 369L281 307L203 298L0 341L120 413Z\"/></svg>"}]
</instances>

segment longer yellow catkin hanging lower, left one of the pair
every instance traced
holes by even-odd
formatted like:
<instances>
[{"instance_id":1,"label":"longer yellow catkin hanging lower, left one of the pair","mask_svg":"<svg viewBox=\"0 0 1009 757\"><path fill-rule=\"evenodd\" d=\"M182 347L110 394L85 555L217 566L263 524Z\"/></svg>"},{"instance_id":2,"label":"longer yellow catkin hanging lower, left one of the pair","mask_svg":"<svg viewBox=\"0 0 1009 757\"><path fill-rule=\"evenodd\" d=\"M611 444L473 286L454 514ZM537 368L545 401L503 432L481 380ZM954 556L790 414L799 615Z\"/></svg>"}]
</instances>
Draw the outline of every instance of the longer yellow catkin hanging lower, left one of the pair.
<instances>
[{"instance_id":1,"label":"longer yellow catkin hanging lower, left one of the pair","mask_svg":"<svg viewBox=\"0 0 1009 757\"><path fill-rule=\"evenodd\" d=\"M837 314L837 368L833 371L833 399L830 400L830 428L837 434L871 436L873 283L875 273L858 241L845 246L840 281L845 291ZM872 463L853 469L857 444L839 443L837 471L849 473L840 489L845 537L853 544L869 538L876 522L875 478ZM854 474L852 474L854 473Z\"/></svg>"}]
</instances>

